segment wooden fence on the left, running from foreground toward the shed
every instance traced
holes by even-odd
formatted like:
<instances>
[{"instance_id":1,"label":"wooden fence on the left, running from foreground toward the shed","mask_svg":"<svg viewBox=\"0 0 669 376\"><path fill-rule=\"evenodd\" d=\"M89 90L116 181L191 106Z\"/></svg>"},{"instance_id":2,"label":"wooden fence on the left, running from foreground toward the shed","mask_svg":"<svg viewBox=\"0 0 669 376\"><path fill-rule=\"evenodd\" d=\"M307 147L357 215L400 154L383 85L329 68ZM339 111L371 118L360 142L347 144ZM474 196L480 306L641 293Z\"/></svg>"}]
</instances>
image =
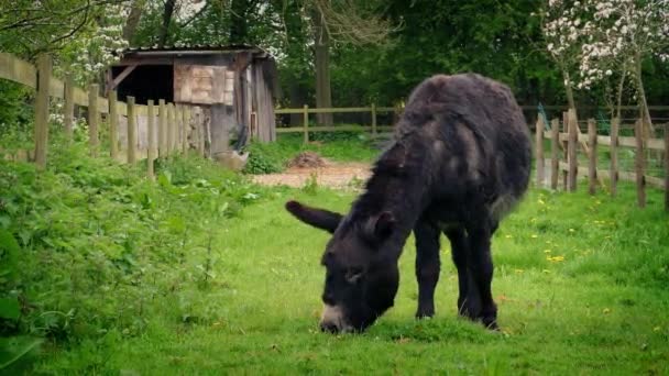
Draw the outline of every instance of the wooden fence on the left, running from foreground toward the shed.
<instances>
[{"instance_id":1,"label":"wooden fence on the left, running from foreground toward the shed","mask_svg":"<svg viewBox=\"0 0 669 376\"><path fill-rule=\"evenodd\" d=\"M48 144L48 108L51 98L64 100L64 131L73 135L75 106L86 107L90 154L100 153L100 117L109 124L110 156L124 163L147 158L147 174L153 177L153 161L156 156L186 153L196 148L205 155L208 131L198 107L149 100L147 104L135 104L133 97L117 100L116 91L108 98L100 97L99 86L91 84L88 90L73 85L70 77L59 80L52 75L52 57L37 57L37 66L10 54L0 53L0 78L22 84L36 90L35 97L35 148L32 158L39 168L46 166ZM156 111L157 110L157 111ZM157 115L156 115L157 112ZM120 125L125 123L125 129ZM140 123L145 126L140 126ZM140 137L140 135L142 137ZM124 152L124 153L121 153Z\"/></svg>"}]
</instances>

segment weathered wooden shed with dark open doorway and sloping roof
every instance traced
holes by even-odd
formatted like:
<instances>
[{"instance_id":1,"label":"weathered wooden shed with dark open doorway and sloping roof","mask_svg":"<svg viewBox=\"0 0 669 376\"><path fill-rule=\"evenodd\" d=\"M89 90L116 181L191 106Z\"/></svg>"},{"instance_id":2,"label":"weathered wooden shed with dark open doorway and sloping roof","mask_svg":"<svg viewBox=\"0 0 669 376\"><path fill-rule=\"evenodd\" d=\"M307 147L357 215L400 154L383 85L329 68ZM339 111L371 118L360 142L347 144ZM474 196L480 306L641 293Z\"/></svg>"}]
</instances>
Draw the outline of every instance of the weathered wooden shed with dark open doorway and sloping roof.
<instances>
[{"instance_id":1,"label":"weathered wooden shed with dark open doorway and sloping roof","mask_svg":"<svg viewBox=\"0 0 669 376\"><path fill-rule=\"evenodd\" d=\"M200 107L217 158L250 137L276 140L276 71L274 58L254 46L138 48L108 70L107 88L141 104L164 99Z\"/></svg>"}]
</instances>

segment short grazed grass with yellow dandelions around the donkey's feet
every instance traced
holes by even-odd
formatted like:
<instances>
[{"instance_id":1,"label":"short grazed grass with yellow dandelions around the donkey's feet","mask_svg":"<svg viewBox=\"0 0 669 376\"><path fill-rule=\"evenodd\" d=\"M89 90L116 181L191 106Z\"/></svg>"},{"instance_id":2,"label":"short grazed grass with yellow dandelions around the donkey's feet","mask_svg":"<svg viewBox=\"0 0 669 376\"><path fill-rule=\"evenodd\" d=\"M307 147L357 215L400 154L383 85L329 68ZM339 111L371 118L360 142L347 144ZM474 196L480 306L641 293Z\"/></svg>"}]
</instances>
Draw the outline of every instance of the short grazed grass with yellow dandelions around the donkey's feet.
<instances>
[{"instance_id":1,"label":"short grazed grass with yellow dandelions around the donkey's feet","mask_svg":"<svg viewBox=\"0 0 669 376\"><path fill-rule=\"evenodd\" d=\"M669 372L669 219L660 195L530 191L494 239L502 333L457 318L457 277L445 242L437 316L416 321L414 246L401 259L396 307L363 335L319 333L327 241L288 217L286 199L346 210L353 197L277 189L227 222L216 245L218 305L206 324L174 320L138 336L113 330L47 351L44 373L139 374L665 374ZM547 257L562 256L563 261ZM559 259L559 257L553 258Z\"/></svg>"}]
</instances>

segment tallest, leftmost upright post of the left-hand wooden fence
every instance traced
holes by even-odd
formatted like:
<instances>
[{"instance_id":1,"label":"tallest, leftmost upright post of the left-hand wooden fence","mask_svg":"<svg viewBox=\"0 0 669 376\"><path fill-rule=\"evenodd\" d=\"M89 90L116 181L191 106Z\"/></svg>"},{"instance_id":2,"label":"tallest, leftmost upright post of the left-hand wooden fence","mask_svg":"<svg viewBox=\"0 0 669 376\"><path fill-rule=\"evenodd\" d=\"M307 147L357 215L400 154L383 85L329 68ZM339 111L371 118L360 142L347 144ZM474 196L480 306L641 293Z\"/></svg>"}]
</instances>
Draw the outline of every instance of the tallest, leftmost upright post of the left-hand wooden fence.
<instances>
[{"instance_id":1,"label":"tallest, leftmost upright post of the left-hand wooden fence","mask_svg":"<svg viewBox=\"0 0 669 376\"><path fill-rule=\"evenodd\" d=\"M51 85L52 58L42 54L37 57L37 97L35 98L35 164L46 168L48 145L48 88Z\"/></svg>"}]
</instances>

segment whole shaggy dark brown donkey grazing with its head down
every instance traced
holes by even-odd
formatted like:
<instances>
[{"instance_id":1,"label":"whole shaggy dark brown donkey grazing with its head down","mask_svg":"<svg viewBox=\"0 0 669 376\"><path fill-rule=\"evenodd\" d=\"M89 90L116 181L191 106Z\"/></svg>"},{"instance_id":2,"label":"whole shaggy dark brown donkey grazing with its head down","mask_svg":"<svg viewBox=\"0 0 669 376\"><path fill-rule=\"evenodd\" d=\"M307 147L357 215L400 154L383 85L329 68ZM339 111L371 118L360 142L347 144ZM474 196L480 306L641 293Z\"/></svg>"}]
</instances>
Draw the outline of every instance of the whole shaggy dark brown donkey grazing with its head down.
<instances>
[{"instance_id":1,"label":"whole shaggy dark brown donkey grazing with its head down","mask_svg":"<svg viewBox=\"0 0 669 376\"><path fill-rule=\"evenodd\" d=\"M394 303L397 261L416 239L417 318L435 314L439 235L458 269L458 312L497 329L491 236L527 189L530 139L511 90L475 74L437 75L412 92L393 144L342 215L288 201L297 219L332 233L322 331L364 331Z\"/></svg>"}]
</instances>

